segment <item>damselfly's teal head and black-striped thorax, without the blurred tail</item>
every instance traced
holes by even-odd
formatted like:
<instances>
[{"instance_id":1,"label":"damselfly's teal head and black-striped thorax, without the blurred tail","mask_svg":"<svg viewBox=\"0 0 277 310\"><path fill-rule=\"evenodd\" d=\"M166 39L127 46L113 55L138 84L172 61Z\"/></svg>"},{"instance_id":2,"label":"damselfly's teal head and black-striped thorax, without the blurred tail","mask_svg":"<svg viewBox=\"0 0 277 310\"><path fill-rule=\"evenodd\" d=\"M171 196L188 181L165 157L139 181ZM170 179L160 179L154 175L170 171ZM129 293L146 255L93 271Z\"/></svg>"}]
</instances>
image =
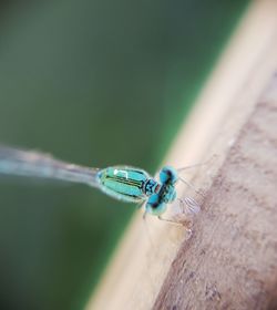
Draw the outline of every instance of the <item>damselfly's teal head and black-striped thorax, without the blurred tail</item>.
<instances>
[{"instance_id":1,"label":"damselfly's teal head and black-striped thorax, without the blurred tail","mask_svg":"<svg viewBox=\"0 0 277 310\"><path fill-rule=\"evenodd\" d=\"M164 167L160 172L160 180L155 180L145 170L114 166L98 173L101 189L123 202L143 203L145 209L152 215L161 215L165 211L167 204L176 198L175 183L177 172L172 167Z\"/></svg>"}]
</instances>

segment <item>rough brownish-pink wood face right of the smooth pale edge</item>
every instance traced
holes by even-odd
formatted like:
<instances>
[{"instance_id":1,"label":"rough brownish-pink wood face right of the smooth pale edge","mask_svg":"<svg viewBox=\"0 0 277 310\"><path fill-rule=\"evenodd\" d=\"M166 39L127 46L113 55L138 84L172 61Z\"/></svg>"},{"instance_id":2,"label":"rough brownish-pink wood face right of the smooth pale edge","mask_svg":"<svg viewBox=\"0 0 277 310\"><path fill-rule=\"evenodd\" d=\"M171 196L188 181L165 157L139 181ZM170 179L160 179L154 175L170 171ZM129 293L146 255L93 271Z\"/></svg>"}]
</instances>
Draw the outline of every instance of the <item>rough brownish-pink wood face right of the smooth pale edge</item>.
<instances>
[{"instance_id":1,"label":"rough brownish-pink wood face right of the smooth pale edge","mask_svg":"<svg viewBox=\"0 0 277 310\"><path fill-rule=\"evenodd\" d=\"M277 309L277 71L153 309Z\"/></svg>"}]
</instances>

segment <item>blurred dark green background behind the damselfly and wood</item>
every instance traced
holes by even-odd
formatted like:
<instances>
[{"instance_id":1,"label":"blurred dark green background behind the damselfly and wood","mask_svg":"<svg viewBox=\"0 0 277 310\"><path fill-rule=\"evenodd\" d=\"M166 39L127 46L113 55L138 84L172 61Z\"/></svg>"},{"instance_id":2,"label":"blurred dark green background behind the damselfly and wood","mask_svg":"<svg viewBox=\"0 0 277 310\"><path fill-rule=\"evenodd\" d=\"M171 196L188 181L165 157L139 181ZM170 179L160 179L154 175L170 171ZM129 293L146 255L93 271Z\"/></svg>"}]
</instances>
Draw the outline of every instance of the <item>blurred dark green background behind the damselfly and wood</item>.
<instances>
[{"instance_id":1,"label":"blurred dark green background behind the damselfly and wood","mask_svg":"<svg viewBox=\"0 0 277 310\"><path fill-rule=\"evenodd\" d=\"M0 143L155 173L247 2L1 2ZM134 209L1 177L0 309L82 309Z\"/></svg>"}]
</instances>

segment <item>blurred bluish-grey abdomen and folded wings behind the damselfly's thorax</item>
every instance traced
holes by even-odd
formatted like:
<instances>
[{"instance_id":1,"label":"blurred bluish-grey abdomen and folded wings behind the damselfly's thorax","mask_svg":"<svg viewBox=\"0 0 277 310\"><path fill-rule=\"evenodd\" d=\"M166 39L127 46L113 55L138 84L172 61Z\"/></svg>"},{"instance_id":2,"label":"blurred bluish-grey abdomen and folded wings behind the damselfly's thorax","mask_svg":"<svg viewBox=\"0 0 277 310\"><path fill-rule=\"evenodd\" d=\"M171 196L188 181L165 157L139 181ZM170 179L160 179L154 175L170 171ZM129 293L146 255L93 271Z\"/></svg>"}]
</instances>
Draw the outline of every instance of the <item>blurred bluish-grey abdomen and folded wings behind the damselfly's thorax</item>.
<instances>
[{"instance_id":1,"label":"blurred bluish-grey abdomen and folded wings behind the damselfly's thorax","mask_svg":"<svg viewBox=\"0 0 277 310\"><path fill-rule=\"evenodd\" d=\"M64 163L48 154L0 146L0 175L60 179L100 187L98 172L98 168Z\"/></svg>"}]
</instances>

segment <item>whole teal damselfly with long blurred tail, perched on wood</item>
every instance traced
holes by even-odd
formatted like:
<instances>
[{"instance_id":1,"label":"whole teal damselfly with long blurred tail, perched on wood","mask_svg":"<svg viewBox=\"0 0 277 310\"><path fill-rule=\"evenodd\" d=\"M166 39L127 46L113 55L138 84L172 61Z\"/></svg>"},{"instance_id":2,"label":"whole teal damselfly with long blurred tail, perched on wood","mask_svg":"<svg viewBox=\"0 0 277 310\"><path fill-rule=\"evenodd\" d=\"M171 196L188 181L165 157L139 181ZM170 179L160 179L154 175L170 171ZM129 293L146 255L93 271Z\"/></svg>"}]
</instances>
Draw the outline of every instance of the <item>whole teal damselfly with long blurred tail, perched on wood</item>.
<instances>
[{"instance_id":1,"label":"whole teal damselfly with long blurred tail, perched on wood","mask_svg":"<svg viewBox=\"0 0 277 310\"><path fill-rule=\"evenodd\" d=\"M0 174L83 183L117 200L144 205L145 215L155 215L160 219L163 219L161 216L167 205L176 199L177 180L191 186L178 172L165 166L160 170L157 180L145 170L131 166L89 168L55 159L48 154L0 146ZM188 213L199 210L198 204L191 197L179 202L186 205Z\"/></svg>"}]
</instances>

